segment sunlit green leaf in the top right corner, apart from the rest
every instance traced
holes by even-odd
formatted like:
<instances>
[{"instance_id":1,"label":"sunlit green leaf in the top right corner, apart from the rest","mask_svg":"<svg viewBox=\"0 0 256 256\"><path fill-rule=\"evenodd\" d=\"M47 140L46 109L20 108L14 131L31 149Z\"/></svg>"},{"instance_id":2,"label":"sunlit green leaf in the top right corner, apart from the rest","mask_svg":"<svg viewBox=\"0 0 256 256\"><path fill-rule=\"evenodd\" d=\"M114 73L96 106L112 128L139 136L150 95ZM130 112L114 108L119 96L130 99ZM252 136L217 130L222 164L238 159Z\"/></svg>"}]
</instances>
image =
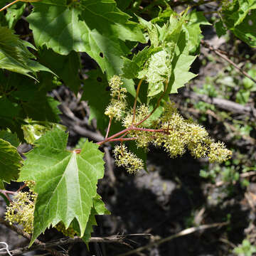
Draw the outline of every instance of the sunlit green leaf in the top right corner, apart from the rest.
<instances>
[{"instance_id":1,"label":"sunlit green leaf in the top right corner, apart from the rest","mask_svg":"<svg viewBox=\"0 0 256 256\"><path fill-rule=\"evenodd\" d=\"M256 47L256 3L254 0L235 0L223 4L222 20L235 36Z\"/></svg>"}]
</instances>

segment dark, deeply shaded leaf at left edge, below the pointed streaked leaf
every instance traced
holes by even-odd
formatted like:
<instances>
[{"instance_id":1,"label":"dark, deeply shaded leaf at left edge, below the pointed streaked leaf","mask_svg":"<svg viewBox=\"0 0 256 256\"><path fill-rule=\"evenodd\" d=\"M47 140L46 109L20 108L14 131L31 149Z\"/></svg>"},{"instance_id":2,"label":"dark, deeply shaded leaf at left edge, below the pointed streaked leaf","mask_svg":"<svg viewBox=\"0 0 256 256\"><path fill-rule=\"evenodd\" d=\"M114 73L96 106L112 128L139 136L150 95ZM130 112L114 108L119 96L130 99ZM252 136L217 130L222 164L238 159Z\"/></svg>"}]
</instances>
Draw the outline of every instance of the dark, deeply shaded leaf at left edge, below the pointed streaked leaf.
<instances>
[{"instance_id":1,"label":"dark, deeply shaded leaf at left edge, below the pointed streaked leaf","mask_svg":"<svg viewBox=\"0 0 256 256\"><path fill-rule=\"evenodd\" d=\"M11 97L0 97L0 107L5 110L0 113L1 128L9 128L11 132L16 132L18 138L23 141L24 134L21 127L26 124L26 118L34 121L58 122L59 102L53 97L46 96L49 90L53 90L52 74L39 73L38 78L41 80L39 83L18 73L12 73L8 79L4 75L1 78L0 90L8 93L11 88L13 91Z\"/></svg>"}]
</instances>

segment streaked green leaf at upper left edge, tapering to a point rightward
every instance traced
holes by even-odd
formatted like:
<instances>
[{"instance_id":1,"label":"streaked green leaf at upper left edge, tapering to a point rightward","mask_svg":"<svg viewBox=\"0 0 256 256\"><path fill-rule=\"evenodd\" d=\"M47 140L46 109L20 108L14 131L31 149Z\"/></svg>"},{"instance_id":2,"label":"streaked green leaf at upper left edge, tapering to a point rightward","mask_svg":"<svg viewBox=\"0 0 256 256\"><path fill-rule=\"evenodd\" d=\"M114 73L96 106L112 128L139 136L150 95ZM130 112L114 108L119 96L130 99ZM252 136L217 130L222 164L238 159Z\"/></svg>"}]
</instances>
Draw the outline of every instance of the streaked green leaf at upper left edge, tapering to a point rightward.
<instances>
[{"instance_id":1,"label":"streaked green leaf at upper left edge, tapering to a point rightward","mask_svg":"<svg viewBox=\"0 0 256 256\"><path fill-rule=\"evenodd\" d=\"M36 80L33 75L39 70L50 71L37 63L32 53L11 29L0 26L0 68L21 73Z\"/></svg>"}]
</instances>

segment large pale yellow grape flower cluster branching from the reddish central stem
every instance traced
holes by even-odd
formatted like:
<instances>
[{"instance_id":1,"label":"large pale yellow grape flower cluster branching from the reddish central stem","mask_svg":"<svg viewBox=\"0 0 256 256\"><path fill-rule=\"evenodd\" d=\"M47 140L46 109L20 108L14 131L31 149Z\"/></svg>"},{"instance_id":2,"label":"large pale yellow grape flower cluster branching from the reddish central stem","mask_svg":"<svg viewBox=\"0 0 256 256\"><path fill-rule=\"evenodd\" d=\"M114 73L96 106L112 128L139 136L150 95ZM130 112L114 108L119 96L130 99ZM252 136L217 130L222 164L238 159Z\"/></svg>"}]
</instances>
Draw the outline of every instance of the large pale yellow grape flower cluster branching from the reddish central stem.
<instances>
[{"instance_id":1,"label":"large pale yellow grape flower cluster branching from the reddish central stem","mask_svg":"<svg viewBox=\"0 0 256 256\"><path fill-rule=\"evenodd\" d=\"M128 129L125 135L136 140L138 147L147 150L149 144L162 146L171 158L182 156L187 150L195 158L208 157L210 162L223 162L230 158L232 152L225 148L223 142L214 142L204 127L182 117L173 102L164 102L163 112L151 122L148 122L151 116L149 107L144 104L124 115L126 91L121 85L122 80L116 75L110 80L112 100L105 114L121 120ZM144 167L142 159L127 150L127 146L122 144L122 137L120 141L121 146L114 147L116 164L126 168L130 174L136 174Z\"/></svg>"}]
</instances>

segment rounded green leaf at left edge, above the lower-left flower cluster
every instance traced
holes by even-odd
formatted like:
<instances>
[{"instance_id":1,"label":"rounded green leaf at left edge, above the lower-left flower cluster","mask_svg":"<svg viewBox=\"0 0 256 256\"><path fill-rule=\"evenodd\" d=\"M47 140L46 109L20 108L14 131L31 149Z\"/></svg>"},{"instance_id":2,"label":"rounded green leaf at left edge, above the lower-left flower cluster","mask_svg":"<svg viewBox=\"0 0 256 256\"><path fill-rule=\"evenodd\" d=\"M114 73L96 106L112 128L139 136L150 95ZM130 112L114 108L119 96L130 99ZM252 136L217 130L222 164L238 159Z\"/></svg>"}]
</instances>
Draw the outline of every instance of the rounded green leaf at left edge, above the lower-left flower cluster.
<instances>
[{"instance_id":1,"label":"rounded green leaf at left edge, above the lower-left flower cluster","mask_svg":"<svg viewBox=\"0 0 256 256\"><path fill-rule=\"evenodd\" d=\"M18 171L21 168L21 156L15 146L0 139L0 183L10 183L18 178Z\"/></svg>"}]
</instances>

